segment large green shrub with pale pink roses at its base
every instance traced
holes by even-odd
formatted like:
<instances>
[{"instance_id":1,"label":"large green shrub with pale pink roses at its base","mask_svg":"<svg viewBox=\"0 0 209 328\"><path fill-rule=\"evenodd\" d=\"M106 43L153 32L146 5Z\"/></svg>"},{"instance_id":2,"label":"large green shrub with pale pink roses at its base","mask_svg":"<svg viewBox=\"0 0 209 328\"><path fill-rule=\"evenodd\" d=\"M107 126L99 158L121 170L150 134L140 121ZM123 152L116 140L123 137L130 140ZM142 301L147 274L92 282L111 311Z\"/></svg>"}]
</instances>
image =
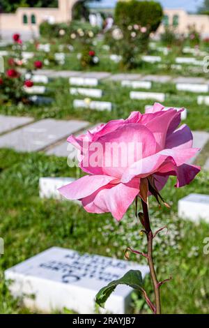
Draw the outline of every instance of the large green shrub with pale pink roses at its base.
<instances>
[{"instance_id":1,"label":"large green shrub with pale pink roses at its base","mask_svg":"<svg viewBox=\"0 0 209 328\"><path fill-rule=\"evenodd\" d=\"M121 55L123 67L134 68L141 63L140 55L148 50L150 33L157 30L162 15L162 7L155 1L131 0L117 3L117 26L107 33L105 39L111 52Z\"/></svg>"}]
</instances>

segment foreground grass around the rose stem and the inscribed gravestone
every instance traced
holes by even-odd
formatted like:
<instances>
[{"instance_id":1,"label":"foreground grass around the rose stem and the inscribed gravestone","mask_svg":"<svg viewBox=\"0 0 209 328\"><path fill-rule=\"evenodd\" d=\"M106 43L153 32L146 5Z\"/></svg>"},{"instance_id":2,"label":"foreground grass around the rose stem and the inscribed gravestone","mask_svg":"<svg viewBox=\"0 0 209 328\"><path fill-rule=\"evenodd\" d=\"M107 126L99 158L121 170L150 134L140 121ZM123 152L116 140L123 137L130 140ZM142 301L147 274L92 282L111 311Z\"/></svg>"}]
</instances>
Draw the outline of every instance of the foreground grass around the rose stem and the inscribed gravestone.
<instances>
[{"instance_id":1,"label":"foreground grass around the rose stem and the inscribed gravestone","mask_svg":"<svg viewBox=\"0 0 209 328\"><path fill-rule=\"evenodd\" d=\"M17 154L0 150L0 232L5 242L5 254L0 258L0 313L28 313L21 299L15 301L3 280L3 271L51 246L75 251L122 258L127 246L146 250L146 240L139 237L141 226L134 218L132 207L121 223L110 214L88 214L72 202L41 200L38 196L39 177L73 177L77 171L69 168L65 158L44 154ZM203 255L203 239L209 225L194 225L178 218L178 199L192 192L207 193L209 174L201 172L185 188L176 189L174 181L162 191L171 210L159 209L150 200L153 230L168 225L155 239L155 264L160 280L173 276L162 287L164 313L209 313L209 256ZM134 255L131 260L145 263ZM146 289L151 292L149 278ZM153 295L150 295L153 297ZM135 295L136 297L136 295ZM144 301L134 301L135 312L146 312Z\"/></svg>"}]
</instances>

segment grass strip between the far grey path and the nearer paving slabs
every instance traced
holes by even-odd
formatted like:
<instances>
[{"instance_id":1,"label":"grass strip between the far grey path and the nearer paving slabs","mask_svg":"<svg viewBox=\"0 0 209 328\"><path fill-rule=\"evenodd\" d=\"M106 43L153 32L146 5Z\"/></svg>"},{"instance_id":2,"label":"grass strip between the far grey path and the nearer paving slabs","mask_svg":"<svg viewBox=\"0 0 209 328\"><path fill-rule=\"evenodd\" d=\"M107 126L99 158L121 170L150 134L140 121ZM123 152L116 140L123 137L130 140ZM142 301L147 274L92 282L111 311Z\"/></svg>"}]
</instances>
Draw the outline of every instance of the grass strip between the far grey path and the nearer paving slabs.
<instances>
[{"instance_id":1,"label":"grass strip between the far grey path and the nearer paving slabs","mask_svg":"<svg viewBox=\"0 0 209 328\"><path fill-rule=\"evenodd\" d=\"M144 112L145 105L153 104L153 100L131 100L131 89L121 87L116 82L101 82L100 88L104 91L101 100L111 101L114 104L112 112L98 112L96 110L75 109L73 108L73 99L84 96L71 96L69 93L69 82L67 79L56 79L48 85L50 93L54 98L52 105L1 105L0 114L26 115L36 119L54 118L54 119L86 119L91 123L105 122L109 119L118 119L118 117L127 117L133 110ZM140 89L143 91L143 89ZM148 90L144 90L148 91ZM176 91L174 84L153 83L152 91L164 92L167 94L164 101L165 106L186 107L188 110L187 119L184 123L188 124L192 130L209 131L209 106L197 105L197 94L189 92ZM100 99L99 99L100 100Z\"/></svg>"}]
</instances>

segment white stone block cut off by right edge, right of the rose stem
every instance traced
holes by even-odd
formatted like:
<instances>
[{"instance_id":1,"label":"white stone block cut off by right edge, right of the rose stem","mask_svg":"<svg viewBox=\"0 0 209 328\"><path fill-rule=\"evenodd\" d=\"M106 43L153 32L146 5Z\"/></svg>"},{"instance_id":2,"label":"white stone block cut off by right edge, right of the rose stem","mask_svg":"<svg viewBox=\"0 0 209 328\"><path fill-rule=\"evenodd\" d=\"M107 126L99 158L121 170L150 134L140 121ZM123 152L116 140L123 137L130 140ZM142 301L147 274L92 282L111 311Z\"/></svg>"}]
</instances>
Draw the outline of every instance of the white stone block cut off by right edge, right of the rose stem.
<instances>
[{"instance_id":1,"label":"white stone block cut off by right edge, right of the rose stem","mask_svg":"<svg viewBox=\"0 0 209 328\"><path fill-rule=\"evenodd\" d=\"M209 195L192 193L178 201L178 216L198 223L209 223Z\"/></svg>"}]
</instances>

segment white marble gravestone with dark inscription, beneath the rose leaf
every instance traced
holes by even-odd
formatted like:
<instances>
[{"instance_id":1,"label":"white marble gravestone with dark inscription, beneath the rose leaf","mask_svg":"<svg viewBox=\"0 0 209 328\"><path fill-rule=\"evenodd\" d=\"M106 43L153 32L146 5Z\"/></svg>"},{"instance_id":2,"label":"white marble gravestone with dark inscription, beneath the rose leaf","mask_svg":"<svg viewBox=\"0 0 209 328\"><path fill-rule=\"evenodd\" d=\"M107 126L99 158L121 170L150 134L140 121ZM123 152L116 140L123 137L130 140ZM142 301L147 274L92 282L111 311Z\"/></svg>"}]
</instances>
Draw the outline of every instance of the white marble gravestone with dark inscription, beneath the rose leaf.
<instances>
[{"instance_id":1,"label":"white marble gravestone with dark inscription, beneath the rose leaf","mask_svg":"<svg viewBox=\"0 0 209 328\"><path fill-rule=\"evenodd\" d=\"M140 270L143 278L148 274L148 267L139 264L52 247L6 270L5 277L13 281L12 295L23 297L29 308L44 313L68 308L91 314L95 312L97 292L131 269ZM105 311L127 313L131 292L131 288L119 285L107 300Z\"/></svg>"}]
</instances>

